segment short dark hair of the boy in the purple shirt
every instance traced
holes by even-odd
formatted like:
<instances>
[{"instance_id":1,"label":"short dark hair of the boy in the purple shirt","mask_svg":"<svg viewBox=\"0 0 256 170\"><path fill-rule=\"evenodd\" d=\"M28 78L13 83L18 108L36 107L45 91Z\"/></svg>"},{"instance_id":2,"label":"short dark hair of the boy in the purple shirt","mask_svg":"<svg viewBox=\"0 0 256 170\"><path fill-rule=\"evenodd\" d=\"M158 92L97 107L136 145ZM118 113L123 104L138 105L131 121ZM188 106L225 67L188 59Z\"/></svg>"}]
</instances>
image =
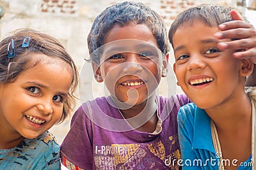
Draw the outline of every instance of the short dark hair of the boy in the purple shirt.
<instances>
[{"instance_id":1,"label":"short dark hair of the boy in the purple shirt","mask_svg":"<svg viewBox=\"0 0 256 170\"><path fill-rule=\"evenodd\" d=\"M161 52L165 55L170 50L168 36L163 19L156 11L145 6L143 3L124 2L109 6L102 11L94 20L87 42L89 53L103 45L106 34L115 24L124 26L134 22L134 24L145 24L157 40ZM100 56L93 55L91 59L99 64Z\"/></svg>"}]
</instances>

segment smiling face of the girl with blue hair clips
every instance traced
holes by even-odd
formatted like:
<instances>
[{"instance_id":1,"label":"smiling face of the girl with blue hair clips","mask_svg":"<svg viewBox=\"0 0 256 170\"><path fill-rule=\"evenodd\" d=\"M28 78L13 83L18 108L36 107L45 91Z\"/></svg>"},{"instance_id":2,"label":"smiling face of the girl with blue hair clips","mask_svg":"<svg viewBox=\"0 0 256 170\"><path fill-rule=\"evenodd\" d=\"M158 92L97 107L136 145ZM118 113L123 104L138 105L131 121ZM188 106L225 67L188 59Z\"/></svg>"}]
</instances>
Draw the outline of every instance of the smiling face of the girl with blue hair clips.
<instances>
[{"instance_id":1,"label":"smiling face of the girl with blue hair clips","mask_svg":"<svg viewBox=\"0 0 256 170\"><path fill-rule=\"evenodd\" d=\"M36 138L60 120L73 77L61 59L41 53L26 57L40 62L0 85L0 127L10 139Z\"/></svg>"}]
</instances>

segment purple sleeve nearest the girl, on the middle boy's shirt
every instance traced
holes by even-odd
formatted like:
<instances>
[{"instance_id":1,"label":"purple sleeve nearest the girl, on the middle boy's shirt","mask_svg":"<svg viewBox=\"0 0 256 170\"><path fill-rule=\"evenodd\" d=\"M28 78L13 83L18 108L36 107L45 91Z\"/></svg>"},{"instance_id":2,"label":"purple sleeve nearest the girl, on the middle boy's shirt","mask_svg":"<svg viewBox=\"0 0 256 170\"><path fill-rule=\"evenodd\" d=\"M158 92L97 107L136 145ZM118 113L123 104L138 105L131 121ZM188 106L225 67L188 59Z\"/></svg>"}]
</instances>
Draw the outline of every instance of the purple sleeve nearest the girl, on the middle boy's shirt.
<instances>
[{"instance_id":1,"label":"purple sleeve nearest the girl, on the middle boy's shirt","mask_svg":"<svg viewBox=\"0 0 256 170\"><path fill-rule=\"evenodd\" d=\"M70 131L61 143L61 157L83 169L92 169L92 123L80 106L71 120Z\"/></svg>"}]
</instances>

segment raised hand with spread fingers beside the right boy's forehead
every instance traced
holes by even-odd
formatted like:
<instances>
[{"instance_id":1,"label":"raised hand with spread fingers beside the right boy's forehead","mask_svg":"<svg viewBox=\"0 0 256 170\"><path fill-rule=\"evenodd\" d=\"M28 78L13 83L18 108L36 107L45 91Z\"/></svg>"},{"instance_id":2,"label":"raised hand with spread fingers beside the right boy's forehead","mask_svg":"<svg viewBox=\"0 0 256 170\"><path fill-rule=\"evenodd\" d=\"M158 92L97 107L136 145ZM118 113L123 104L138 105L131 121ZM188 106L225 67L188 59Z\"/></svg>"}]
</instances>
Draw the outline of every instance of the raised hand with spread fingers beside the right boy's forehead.
<instances>
[{"instance_id":1,"label":"raised hand with spread fingers beside the right boy's forehead","mask_svg":"<svg viewBox=\"0 0 256 170\"><path fill-rule=\"evenodd\" d=\"M256 30L252 24L243 21L239 12L230 11L232 21L219 25L221 32L216 32L217 39L236 39L234 41L218 43L221 50L239 50L233 53L233 57L238 59L250 58L256 64Z\"/></svg>"}]
</instances>

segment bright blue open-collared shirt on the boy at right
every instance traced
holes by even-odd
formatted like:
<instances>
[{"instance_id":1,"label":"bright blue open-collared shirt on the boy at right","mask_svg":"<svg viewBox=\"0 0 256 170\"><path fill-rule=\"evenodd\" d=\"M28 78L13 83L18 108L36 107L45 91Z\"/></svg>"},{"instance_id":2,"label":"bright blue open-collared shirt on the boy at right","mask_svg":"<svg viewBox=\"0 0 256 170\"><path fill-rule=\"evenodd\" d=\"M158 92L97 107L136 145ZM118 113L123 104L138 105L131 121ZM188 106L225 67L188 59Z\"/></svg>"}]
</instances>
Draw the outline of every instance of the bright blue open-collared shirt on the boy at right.
<instances>
[{"instance_id":1,"label":"bright blue open-collared shirt on the boy at right","mask_svg":"<svg viewBox=\"0 0 256 170\"><path fill-rule=\"evenodd\" d=\"M178 133L180 142L182 170L205 169L218 170L221 153L216 153L212 144L211 118L204 110L196 107L194 103L186 104L178 113ZM252 156L238 167L252 169ZM232 160L225 160L225 162ZM224 164L226 164L223 162Z\"/></svg>"}]
</instances>

